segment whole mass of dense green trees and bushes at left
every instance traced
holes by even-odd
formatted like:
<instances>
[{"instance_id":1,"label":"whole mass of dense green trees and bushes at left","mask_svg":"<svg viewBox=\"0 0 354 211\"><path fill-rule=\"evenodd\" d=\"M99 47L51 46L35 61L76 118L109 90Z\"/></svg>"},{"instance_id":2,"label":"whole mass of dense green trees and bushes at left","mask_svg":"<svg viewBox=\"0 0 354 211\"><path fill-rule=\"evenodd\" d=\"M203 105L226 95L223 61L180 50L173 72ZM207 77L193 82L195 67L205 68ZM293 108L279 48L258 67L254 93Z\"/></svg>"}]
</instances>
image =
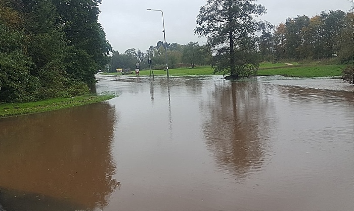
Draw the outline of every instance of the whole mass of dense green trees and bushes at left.
<instances>
[{"instance_id":1,"label":"whole mass of dense green trees and bushes at left","mask_svg":"<svg viewBox=\"0 0 354 211\"><path fill-rule=\"evenodd\" d=\"M0 103L89 91L112 47L101 0L0 1Z\"/></svg>"}]
</instances>

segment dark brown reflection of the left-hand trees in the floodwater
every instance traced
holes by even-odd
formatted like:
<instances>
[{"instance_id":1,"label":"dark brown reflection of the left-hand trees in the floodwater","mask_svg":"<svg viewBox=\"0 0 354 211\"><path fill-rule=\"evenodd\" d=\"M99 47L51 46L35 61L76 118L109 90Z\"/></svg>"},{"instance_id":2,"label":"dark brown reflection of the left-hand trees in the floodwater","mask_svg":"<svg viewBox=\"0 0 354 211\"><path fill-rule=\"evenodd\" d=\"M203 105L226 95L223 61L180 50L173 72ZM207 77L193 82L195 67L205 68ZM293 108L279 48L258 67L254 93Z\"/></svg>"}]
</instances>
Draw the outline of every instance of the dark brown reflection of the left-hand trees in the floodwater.
<instances>
[{"instance_id":1,"label":"dark brown reflection of the left-hand trees in the floodwater","mask_svg":"<svg viewBox=\"0 0 354 211\"><path fill-rule=\"evenodd\" d=\"M7 211L106 207L119 187L115 124L108 103L0 120L0 204Z\"/></svg>"}]
</instances>

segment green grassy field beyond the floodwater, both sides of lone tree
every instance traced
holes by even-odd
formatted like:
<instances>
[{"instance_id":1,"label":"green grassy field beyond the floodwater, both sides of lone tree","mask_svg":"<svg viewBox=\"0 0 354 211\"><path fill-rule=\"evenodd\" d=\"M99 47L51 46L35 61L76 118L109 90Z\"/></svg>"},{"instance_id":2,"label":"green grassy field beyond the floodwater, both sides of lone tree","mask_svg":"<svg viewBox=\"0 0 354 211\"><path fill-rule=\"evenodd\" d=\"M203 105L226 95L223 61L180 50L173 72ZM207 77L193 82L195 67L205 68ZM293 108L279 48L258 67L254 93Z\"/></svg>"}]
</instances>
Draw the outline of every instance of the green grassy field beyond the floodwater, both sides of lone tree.
<instances>
[{"instance_id":1,"label":"green grassy field beyond the floodwater, both sides of lone tree","mask_svg":"<svg viewBox=\"0 0 354 211\"><path fill-rule=\"evenodd\" d=\"M330 77L340 76L341 68L344 65L314 65L314 64L298 64L287 65L285 63L264 63L261 64L258 70L258 76L268 75L283 75L290 77ZM153 70L154 75L166 75L164 70ZM170 69L170 76L187 76L187 75L211 75L213 70L210 66L202 66L195 68L178 68ZM110 73L109 75L116 75L116 73ZM141 70L140 76L150 75L149 70ZM135 76L131 74L129 76Z\"/></svg>"}]
</instances>

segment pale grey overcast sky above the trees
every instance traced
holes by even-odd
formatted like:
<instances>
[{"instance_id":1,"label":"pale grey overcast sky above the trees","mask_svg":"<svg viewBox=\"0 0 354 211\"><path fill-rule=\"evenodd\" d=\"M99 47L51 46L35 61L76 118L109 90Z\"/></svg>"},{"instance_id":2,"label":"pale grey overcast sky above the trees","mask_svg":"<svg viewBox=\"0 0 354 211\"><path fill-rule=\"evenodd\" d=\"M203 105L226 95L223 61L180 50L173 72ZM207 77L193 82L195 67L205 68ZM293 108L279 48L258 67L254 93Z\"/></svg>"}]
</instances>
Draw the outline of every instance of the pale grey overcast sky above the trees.
<instances>
[{"instance_id":1,"label":"pale grey overcast sky above the trees","mask_svg":"<svg viewBox=\"0 0 354 211\"><path fill-rule=\"evenodd\" d=\"M103 0L100 5L101 23L106 38L115 50L123 53L136 48L143 51L157 41L163 41L162 13L166 30L166 42L186 44L190 41L205 43L205 38L194 35L196 17L206 0ZM347 0L258 0L267 8L267 15L261 19L274 25L285 22L297 15L313 17L322 11L348 11Z\"/></svg>"}]
</instances>

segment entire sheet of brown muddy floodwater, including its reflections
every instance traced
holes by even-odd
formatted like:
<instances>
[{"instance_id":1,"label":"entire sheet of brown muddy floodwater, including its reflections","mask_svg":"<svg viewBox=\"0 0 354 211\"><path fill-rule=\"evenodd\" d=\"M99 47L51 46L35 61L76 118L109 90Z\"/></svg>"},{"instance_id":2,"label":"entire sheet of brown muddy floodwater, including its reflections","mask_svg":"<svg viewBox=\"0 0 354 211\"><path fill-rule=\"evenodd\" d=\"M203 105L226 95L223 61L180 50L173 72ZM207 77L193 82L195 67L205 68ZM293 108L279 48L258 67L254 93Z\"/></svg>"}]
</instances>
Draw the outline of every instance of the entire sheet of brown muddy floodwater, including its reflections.
<instances>
[{"instance_id":1,"label":"entire sheet of brown muddy floodwater, including its reflections","mask_svg":"<svg viewBox=\"0 0 354 211\"><path fill-rule=\"evenodd\" d=\"M119 97L0 119L0 210L354 210L353 86L98 79Z\"/></svg>"}]
</instances>

